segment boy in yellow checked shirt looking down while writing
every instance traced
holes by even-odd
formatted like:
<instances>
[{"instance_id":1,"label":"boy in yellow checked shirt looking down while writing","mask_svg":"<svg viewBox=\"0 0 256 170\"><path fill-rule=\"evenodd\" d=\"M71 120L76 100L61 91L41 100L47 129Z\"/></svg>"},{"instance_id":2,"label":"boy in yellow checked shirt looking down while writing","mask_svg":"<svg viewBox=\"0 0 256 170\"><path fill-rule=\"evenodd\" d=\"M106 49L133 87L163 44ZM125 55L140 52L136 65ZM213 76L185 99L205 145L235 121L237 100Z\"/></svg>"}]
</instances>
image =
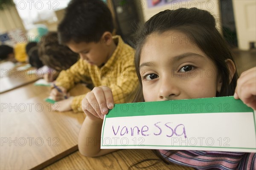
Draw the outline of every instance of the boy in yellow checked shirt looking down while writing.
<instances>
[{"instance_id":1,"label":"boy in yellow checked shirt looking down while writing","mask_svg":"<svg viewBox=\"0 0 256 170\"><path fill-rule=\"evenodd\" d=\"M69 3L58 34L62 44L79 53L80 60L60 73L56 80L59 88L50 93L55 101L62 100L58 102L59 111L82 111L81 101L85 95L63 100L67 91L80 81L108 86L115 103L133 100L138 85L134 49L120 36L112 36L112 32L111 12L101 0L72 0Z\"/></svg>"}]
</instances>

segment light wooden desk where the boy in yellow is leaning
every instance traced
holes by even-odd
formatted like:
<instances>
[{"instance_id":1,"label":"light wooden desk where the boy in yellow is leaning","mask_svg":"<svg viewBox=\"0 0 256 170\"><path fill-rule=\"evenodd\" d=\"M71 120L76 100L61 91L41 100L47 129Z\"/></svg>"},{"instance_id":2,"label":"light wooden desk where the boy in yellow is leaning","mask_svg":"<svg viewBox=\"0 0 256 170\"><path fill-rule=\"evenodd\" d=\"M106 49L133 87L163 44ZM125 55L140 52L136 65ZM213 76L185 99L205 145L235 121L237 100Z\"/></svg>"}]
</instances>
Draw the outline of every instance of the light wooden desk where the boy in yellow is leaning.
<instances>
[{"instance_id":1,"label":"light wooden desk where the boy in yellow is leaning","mask_svg":"<svg viewBox=\"0 0 256 170\"><path fill-rule=\"evenodd\" d=\"M77 150L84 114L52 112L49 90L29 84L0 95L0 169L41 169Z\"/></svg>"}]
</instances>

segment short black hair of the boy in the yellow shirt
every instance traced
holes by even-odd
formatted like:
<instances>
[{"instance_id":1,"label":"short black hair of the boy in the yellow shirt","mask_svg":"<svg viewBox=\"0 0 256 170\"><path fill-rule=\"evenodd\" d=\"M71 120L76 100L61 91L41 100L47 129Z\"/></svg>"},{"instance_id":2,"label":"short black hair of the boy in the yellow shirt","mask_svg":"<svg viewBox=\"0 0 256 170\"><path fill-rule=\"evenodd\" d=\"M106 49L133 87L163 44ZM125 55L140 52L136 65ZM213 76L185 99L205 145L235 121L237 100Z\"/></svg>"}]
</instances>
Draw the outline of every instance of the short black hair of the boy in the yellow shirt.
<instances>
[{"instance_id":1,"label":"short black hair of the boy in the yellow shirt","mask_svg":"<svg viewBox=\"0 0 256 170\"><path fill-rule=\"evenodd\" d=\"M59 42L97 43L104 32L113 29L111 12L102 0L71 0L58 25Z\"/></svg>"}]
</instances>

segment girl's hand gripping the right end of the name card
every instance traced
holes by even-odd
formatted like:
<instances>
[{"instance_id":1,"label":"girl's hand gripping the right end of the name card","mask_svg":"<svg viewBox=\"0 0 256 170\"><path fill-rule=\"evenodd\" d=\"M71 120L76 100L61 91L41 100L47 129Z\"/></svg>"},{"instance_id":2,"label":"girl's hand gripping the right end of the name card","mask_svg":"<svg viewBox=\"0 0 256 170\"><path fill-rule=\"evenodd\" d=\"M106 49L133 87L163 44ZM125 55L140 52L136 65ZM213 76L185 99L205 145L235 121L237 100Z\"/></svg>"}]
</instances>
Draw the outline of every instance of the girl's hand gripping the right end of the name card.
<instances>
[{"instance_id":1,"label":"girl's hand gripping the right end of the name card","mask_svg":"<svg viewBox=\"0 0 256 170\"><path fill-rule=\"evenodd\" d=\"M237 81L234 98L256 110L256 67L243 72Z\"/></svg>"}]
</instances>

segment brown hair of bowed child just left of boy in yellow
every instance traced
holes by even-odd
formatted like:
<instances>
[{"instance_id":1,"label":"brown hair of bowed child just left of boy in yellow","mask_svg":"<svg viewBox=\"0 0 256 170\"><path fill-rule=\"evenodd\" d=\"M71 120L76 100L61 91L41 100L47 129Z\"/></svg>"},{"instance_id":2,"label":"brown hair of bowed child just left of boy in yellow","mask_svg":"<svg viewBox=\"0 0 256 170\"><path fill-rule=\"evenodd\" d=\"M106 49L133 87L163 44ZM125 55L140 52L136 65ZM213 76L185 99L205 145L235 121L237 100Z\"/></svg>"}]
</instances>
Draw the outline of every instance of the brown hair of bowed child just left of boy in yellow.
<instances>
[{"instance_id":1,"label":"brown hair of bowed child just left of boy in yellow","mask_svg":"<svg viewBox=\"0 0 256 170\"><path fill-rule=\"evenodd\" d=\"M58 43L57 32L49 32L45 35L38 51L44 65L58 72L69 69L79 60L78 54Z\"/></svg>"}]
</instances>

